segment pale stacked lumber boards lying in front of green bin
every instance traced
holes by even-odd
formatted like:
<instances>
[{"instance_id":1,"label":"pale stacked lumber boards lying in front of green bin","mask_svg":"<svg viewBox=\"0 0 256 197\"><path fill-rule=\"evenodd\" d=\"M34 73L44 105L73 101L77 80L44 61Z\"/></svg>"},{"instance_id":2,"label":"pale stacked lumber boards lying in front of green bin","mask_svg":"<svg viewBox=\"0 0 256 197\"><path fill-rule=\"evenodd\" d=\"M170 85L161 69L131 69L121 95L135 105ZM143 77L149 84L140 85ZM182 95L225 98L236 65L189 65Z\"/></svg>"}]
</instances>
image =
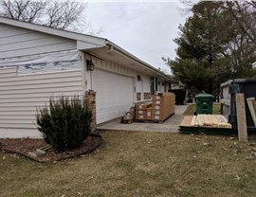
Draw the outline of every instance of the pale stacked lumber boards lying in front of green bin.
<instances>
[{"instance_id":1,"label":"pale stacked lumber boards lying in front of green bin","mask_svg":"<svg viewBox=\"0 0 256 197\"><path fill-rule=\"evenodd\" d=\"M222 115L197 115L192 116L192 127L210 127L231 129L228 119Z\"/></svg>"}]
</instances>

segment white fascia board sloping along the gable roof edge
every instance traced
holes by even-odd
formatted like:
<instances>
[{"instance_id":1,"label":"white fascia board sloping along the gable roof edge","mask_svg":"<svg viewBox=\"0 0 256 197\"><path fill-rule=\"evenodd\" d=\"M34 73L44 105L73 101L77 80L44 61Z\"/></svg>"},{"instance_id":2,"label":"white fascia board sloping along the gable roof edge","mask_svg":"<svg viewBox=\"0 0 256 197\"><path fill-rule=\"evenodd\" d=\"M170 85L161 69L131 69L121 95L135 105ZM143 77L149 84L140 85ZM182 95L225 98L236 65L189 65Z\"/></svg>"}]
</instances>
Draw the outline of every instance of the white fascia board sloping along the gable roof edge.
<instances>
[{"instance_id":1,"label":"white fascia board sloping along the gable roof edge","mask_svg":"<svg viewBox=\"0 0 256 197\"><path fill-rule=\"evenodd\" d=\"M39 32L43 32L43 33L47 33L47 34L51 34L51 35L55 35L63 38L68 38L71 40L91 43L95 45L105 45L105 41L106 41L106 39L96 37L96 36L75 33L72 31L62 30L54 27L41 26L41 25L13 20L5 17L0 17L0 23L6 24L9 26L14 26L14 27L27 28L30 30L35 30L35 31L39 31Z\"/></svg>"}]
</instances>

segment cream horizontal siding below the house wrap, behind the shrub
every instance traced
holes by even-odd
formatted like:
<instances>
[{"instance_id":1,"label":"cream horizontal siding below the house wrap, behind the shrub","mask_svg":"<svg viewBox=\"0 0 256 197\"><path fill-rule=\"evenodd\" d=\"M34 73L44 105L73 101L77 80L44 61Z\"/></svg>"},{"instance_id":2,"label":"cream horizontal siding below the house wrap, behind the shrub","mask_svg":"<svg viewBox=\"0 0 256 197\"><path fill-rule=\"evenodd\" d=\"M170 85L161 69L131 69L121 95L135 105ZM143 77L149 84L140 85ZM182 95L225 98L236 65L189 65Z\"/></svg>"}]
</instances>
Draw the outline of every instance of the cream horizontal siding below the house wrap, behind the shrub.
<instances>
[{"instance_id":1,"label":"cream horizontal siding below the house wrap, behind the shrub","mask_svg":"<svg viewBox=\"0 0 256 197\"><path fill-rule=\"evenodd\" d=\"M36 128L36 107L50 96L82 95L82 71L17 76L16 68L0 69L0 128Z\"/></svg>"}]
</instances>

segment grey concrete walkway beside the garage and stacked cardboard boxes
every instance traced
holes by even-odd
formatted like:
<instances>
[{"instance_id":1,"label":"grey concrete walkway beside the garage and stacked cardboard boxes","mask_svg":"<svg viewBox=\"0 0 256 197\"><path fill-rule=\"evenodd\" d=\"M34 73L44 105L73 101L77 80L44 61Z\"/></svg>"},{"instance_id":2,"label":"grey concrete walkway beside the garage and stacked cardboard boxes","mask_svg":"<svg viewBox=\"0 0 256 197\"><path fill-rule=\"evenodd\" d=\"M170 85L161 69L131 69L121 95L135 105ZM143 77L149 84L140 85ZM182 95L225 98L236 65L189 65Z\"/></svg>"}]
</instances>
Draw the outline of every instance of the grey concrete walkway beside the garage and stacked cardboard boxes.
<instances>
[{"instance_id":1,"label":"grey concrete walkway beside the garage and stacked cardboard boxes","mask_svg":"<svg viewBox=\"0 0 256 197\"><path fill-rule=\"evenodd\" d=\"M132 124L121 124L120 118L111 122L102 124L99 130L121 130L121 131L139 131L139 132L168 132L177 133L179 124L183 119L183 113L187 109L186 105L176 105L175 114L165 120L163 123L144 123L134 122Z\"/></svg>"}]
</instances>

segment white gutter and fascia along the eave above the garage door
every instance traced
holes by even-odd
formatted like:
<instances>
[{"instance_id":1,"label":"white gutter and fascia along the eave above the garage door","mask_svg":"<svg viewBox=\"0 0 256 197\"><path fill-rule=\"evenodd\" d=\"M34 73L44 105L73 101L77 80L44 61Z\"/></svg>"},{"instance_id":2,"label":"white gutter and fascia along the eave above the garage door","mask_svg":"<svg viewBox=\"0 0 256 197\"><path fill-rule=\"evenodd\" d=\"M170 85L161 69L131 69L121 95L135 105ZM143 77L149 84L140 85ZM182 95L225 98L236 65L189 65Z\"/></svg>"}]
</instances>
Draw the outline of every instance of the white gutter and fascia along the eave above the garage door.
<instances>
[{"instance_id":1,"label":"white gutter and fascia along the eave above the garage door","mask_svg":"<svg viewBox=\"0 0 256 197\"><path fill-rule=\"evenodd\" d=\"M154 71L157 75L160 75L161 77L163 77L164 79L168 80L168 81L174 81L171 77L169 77L168 75L165 75L164 73L162 73L161 71L159 71L158 69L156 69L154 66L145 63L143 61L141 61L140 59L138 59L136 56L134 56L133 54L129 53L128 51L124 50L123 48L119 47L119 45L116 45L108 40L106 40L106 45L108 45L109 47L111 47L113 50L116 50L117 52L119 52L120 54L123 54L124 56L136 61L137 63L151 69L152 71Z\"/></svg>"}]
</instances>

